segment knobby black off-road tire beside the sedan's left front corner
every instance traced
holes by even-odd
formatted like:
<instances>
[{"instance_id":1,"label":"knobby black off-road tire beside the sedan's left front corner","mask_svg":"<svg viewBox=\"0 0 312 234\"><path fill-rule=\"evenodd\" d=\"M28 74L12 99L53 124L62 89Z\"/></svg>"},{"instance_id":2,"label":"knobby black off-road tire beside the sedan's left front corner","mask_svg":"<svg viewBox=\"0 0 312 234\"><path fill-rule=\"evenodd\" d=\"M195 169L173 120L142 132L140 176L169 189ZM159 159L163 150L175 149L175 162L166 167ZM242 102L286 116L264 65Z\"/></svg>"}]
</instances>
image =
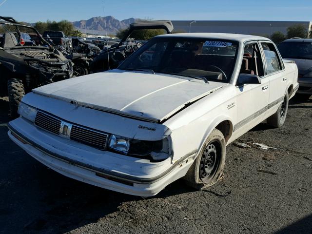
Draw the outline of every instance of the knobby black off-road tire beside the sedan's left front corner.
<instances>
[{"instance_id":1,"label":"knobby black off-road tire beside the sedan's left front corner","mask_svg":"<svg viewBox=\"0 0 312 234\"><path fill-rule=\"evenodd\" d=\"M17 118L21 99L25 95L24 85L20 79L9 79L7 86L11 117Z\"/></svg>"}]
</instances>

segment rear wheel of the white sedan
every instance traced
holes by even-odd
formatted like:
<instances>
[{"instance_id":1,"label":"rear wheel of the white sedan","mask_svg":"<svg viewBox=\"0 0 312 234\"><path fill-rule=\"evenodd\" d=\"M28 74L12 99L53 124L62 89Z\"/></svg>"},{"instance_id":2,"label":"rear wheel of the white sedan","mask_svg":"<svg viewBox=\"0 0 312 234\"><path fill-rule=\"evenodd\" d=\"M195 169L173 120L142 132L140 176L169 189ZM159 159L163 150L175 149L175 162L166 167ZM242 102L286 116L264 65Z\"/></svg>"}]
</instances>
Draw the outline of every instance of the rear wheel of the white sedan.
<instances>
[{"instance_id":1,"label":"rear wheel of the white sedan","mask_svg":"<svg viewBox=\"0 0 312 234\"><path fill-rule=\"evenodd\" d=\"M286 92L283 102L279 105L277 111L272 116L267 118L267 123L269 125L274 128L280 128L281 126L283 126L287 116L288 102L289 95L288 92Z\"/></svg>"}]
</instances>

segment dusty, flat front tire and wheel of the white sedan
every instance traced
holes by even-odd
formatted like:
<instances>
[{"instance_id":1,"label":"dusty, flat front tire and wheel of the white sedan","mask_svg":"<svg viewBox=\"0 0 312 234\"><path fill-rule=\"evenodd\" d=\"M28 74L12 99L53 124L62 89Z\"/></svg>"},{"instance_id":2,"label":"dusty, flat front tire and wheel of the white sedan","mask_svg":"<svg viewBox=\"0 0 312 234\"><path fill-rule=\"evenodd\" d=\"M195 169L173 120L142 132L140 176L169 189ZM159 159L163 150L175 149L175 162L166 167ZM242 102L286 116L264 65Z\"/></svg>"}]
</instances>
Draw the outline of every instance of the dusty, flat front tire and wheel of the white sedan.
<instances>
[{"instance_id":1,"label":"dusty, flat front tire and wheel of the white sedan","mask_svg":"<svg viewBox=\"0 0 312 234\"><path fill-rule=\"evenodd\" d=\"M225 164L225 145L223 134L214 129L184 177L188 185L195 189L203 189L214 185L220 179Z\"/></svg>"}]
</instances>

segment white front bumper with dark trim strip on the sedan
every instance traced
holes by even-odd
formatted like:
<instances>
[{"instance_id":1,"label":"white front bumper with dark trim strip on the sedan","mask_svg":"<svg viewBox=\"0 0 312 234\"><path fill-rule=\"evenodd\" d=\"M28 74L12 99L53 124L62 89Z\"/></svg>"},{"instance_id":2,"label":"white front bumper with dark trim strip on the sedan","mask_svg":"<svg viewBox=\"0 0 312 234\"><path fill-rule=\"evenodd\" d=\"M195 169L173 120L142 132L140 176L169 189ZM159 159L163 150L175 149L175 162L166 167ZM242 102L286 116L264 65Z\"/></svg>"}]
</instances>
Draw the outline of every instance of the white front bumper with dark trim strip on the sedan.
<instances>
[{"instance_id":1,"label":"white front bumper with dark trim strip on the sedan","mask_svg":"<svg viewBox=\"0 0 312 234\"><path fill-rule=\"evenodd\" d=\"M44 132L22 118L11 121L8 127L9 137L47 167L64 176L130 195L156 195L183 177L194 162L195 153L174 164L170 163L171 158L148 163L123 159L125 156L111 152L99 154L96 149Z\"/></svg>"}]
</instances>

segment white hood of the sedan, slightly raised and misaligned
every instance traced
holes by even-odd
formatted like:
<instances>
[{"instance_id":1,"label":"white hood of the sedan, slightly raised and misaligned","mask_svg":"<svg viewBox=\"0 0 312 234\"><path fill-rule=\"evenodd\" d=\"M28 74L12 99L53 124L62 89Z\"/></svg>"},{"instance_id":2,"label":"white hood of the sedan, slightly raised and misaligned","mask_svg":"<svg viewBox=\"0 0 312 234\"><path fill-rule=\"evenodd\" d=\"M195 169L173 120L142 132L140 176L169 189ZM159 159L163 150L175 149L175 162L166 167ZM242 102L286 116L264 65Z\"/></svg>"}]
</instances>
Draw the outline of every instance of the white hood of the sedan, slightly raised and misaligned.
<instances>
[{"instance_id":1,"label":"white hood of the sedan, slightly raised and misaligned","mask_svg":"<svg viewBox=\"0 0 312 234\"><path fill-rule=\"evenodd\" d=\"M125 116L162 121L224 83L166 74L112 70L66 79L34 93Z\"/></svg>"}]
</instances>

